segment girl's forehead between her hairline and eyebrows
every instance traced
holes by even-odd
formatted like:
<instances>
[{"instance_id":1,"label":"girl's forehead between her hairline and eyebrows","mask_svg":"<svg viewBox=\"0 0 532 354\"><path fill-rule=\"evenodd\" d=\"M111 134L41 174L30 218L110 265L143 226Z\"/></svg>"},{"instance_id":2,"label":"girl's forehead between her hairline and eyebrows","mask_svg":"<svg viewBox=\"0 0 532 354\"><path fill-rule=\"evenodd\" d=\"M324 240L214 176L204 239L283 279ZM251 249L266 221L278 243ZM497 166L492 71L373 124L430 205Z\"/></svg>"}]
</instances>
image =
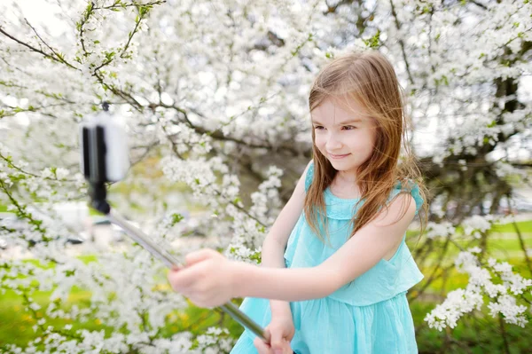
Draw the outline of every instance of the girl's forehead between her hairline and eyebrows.
<instances>
[{"instance_id":1,"label":"girl's forehead between her hairline and eyebrows","mask_svg":"<svg viewBox=\"0 0 532 354\"><path fill-rule=\"evenodd\" d=\"M310 112L312 120L341 122L345 120L372 120L364 106L354 98L326 98Z\"/></svg>"}]
</instances>

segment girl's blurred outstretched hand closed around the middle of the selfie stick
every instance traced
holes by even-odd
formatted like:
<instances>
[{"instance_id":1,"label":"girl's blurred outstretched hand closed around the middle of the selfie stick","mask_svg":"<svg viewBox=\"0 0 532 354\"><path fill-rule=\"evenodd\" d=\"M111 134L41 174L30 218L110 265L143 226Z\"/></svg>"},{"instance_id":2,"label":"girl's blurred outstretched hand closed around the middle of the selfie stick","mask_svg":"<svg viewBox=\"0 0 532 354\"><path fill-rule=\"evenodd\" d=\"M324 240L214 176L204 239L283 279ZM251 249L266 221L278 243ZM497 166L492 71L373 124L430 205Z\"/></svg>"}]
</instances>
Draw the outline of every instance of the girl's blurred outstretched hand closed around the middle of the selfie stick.
<instances>
[{"instance_id":1,"label":"girl's blurred outstretched hand closed around the middle of the selfie stick","mask_svg":"<svg viewBox=\"0 0 532 354\"><path fill-rule=\"evenodd\" d=\"M207 248L188 254L185 260L186 267L168 271L168 281L174 291L207 308L220 306L235 297L238 263Z\"/></svg>"}]
</instances>

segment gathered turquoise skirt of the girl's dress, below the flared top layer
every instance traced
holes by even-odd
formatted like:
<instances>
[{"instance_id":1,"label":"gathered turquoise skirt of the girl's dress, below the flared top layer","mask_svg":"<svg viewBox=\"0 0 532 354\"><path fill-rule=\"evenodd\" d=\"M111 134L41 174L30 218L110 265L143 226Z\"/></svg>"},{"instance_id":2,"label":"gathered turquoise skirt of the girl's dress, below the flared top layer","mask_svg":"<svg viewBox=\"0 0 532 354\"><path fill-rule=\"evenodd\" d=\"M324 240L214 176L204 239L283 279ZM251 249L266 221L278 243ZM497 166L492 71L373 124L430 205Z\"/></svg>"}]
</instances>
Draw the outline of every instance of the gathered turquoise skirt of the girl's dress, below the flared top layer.
<instances>
[{"instance_id":1,"label":"gathered turquoise skirt of the girl's dress, below the flared top layer","mask_svg":"<svg viewBox=\"0 0 532 354\"><path fill-rule=\"evenodd\" d=\"M298 354L417 353L411 312L404 293L371 306L350 306L329 297L290 303ZM240 307L261 326L271 320L267 299L246 298ZM255 335L246 330L231 354L255 354Z\"/></svg>"}]
</instances>

